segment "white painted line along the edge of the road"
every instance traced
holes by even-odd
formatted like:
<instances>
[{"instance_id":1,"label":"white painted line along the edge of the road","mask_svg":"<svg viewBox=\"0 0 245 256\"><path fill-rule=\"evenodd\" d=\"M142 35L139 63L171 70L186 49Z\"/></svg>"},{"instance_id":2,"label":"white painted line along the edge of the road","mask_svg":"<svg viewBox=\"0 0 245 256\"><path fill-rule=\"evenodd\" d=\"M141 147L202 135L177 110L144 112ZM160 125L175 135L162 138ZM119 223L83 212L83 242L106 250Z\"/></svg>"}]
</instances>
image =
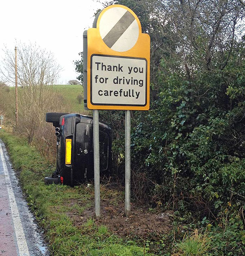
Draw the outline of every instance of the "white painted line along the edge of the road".
<instances>
[{"instance_id":1,"label":"white painted line along the edge of the road","mask_svg":"<svg viewBox=\"0 0 245 256\"><path fill-rule=\"evenodd\" d=\"M9 194L9 203L10 203L13 223L14 223L14 227L15 227L15 235L16 235L16 238L17 238L19 256L30 256L28 246L27 246L27 243L26 243L26 237L25 237L25 234L23 232L23 227L22 227L22 224L21 224L21 220L19 218L19 211L18 211L18 207L17 207L17 204L16 204L15 195L13 193L13 188L12 188L10 177L9 177L9 171L8 171L7 166L6 166L6 162L5 162L5 159L4 159L1 144L0 144L0 155L1 155L1 158L2 158L2 166L3 166L5 180L6 180L6 184L7 184L6 186L7 186L8 194Z\"/></svg>"}]
</instances>

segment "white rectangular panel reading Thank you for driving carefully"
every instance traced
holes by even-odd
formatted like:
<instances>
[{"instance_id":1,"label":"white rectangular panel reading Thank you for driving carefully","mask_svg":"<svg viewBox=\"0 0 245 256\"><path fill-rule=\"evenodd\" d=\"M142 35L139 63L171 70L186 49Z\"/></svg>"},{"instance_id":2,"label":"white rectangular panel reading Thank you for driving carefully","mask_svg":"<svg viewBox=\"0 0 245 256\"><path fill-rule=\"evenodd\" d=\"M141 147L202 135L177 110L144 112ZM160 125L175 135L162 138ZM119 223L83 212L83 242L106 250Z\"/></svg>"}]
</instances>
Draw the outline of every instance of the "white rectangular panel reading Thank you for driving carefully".
<instances>
[{"instance_id":1,"label":"white rectangular panel reading Thank you for driving carefully","mask_svg":"<svg viewBox=\"0 0 245 256\"><path fill-rule=\"evenodd\" d=\"M145 58L94 54L90 64L92 104L142 107L147 104Z\"/></svg>"}]
</instances>

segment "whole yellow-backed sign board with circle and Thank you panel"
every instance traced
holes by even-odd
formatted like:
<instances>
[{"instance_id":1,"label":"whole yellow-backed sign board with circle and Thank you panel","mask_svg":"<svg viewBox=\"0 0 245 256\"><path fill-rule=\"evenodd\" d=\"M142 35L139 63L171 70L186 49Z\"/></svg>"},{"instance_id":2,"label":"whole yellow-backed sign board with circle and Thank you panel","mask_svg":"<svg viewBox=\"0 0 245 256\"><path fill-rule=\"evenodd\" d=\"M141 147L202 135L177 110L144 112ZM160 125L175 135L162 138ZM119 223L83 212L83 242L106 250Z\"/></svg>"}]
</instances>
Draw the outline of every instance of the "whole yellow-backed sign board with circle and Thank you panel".
<instances>
[{"instance_id":1,"label":"whole yellow-backed sign board with circle and Thank you panel","mask_svg":"<svg viewBox=\"0 0 245 256\"><path fill-rule=\"evenodd\" d=\"M149 109L150 38L123 5L102 10L87 30L87 107Z\"/></svg>"}]
</instances>

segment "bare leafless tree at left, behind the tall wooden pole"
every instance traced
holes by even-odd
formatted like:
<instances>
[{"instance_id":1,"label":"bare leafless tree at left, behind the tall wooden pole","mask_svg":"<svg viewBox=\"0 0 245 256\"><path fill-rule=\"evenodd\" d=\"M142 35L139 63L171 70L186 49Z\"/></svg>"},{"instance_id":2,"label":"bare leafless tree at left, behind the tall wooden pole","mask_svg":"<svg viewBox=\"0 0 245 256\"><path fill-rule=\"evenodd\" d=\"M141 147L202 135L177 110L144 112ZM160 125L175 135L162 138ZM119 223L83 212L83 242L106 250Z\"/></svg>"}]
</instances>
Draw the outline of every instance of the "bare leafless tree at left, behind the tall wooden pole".
<instances>
[{"instance_id":1,"label":"bare leafless tree at left, behind the tall wooden pole","mask_svg":"<svg viewBox=\"0 0 245 256\"><path fill-rule=\"evenodd\" d=\"M1 71L6 80L15 81L15 53L7 48ZM32 143L38 136L38 128L45 124L45 113L62 110L62 99L51 86L58 78L60 66L51 52L39 46L17 46L17 77L21 85L18 92L19 126L16 128ZM3 98L4 104L9 99ZM12 112L14 108L9 109ZM11 115L11 113L9 113Z\"/></svg>"}]
</instances>

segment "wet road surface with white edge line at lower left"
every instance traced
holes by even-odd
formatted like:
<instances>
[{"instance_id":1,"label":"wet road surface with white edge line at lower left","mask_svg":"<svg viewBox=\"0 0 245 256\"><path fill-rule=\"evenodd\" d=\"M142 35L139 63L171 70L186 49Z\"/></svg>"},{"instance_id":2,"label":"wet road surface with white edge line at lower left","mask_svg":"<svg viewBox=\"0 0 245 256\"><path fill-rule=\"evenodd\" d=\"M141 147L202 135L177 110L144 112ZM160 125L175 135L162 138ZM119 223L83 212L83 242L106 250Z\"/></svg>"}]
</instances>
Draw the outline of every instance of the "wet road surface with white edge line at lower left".
<instances>
[{"instance_id":1,"label":"wet road surface with white edge line at lower left","mask_svg":"<svg viewBox=\"0 0 245 256\"><path fill-rule=\"evenodd\" d=\"M47 246L0 141L0 256L44 255Z\"/></svg>"}]
</instances>

